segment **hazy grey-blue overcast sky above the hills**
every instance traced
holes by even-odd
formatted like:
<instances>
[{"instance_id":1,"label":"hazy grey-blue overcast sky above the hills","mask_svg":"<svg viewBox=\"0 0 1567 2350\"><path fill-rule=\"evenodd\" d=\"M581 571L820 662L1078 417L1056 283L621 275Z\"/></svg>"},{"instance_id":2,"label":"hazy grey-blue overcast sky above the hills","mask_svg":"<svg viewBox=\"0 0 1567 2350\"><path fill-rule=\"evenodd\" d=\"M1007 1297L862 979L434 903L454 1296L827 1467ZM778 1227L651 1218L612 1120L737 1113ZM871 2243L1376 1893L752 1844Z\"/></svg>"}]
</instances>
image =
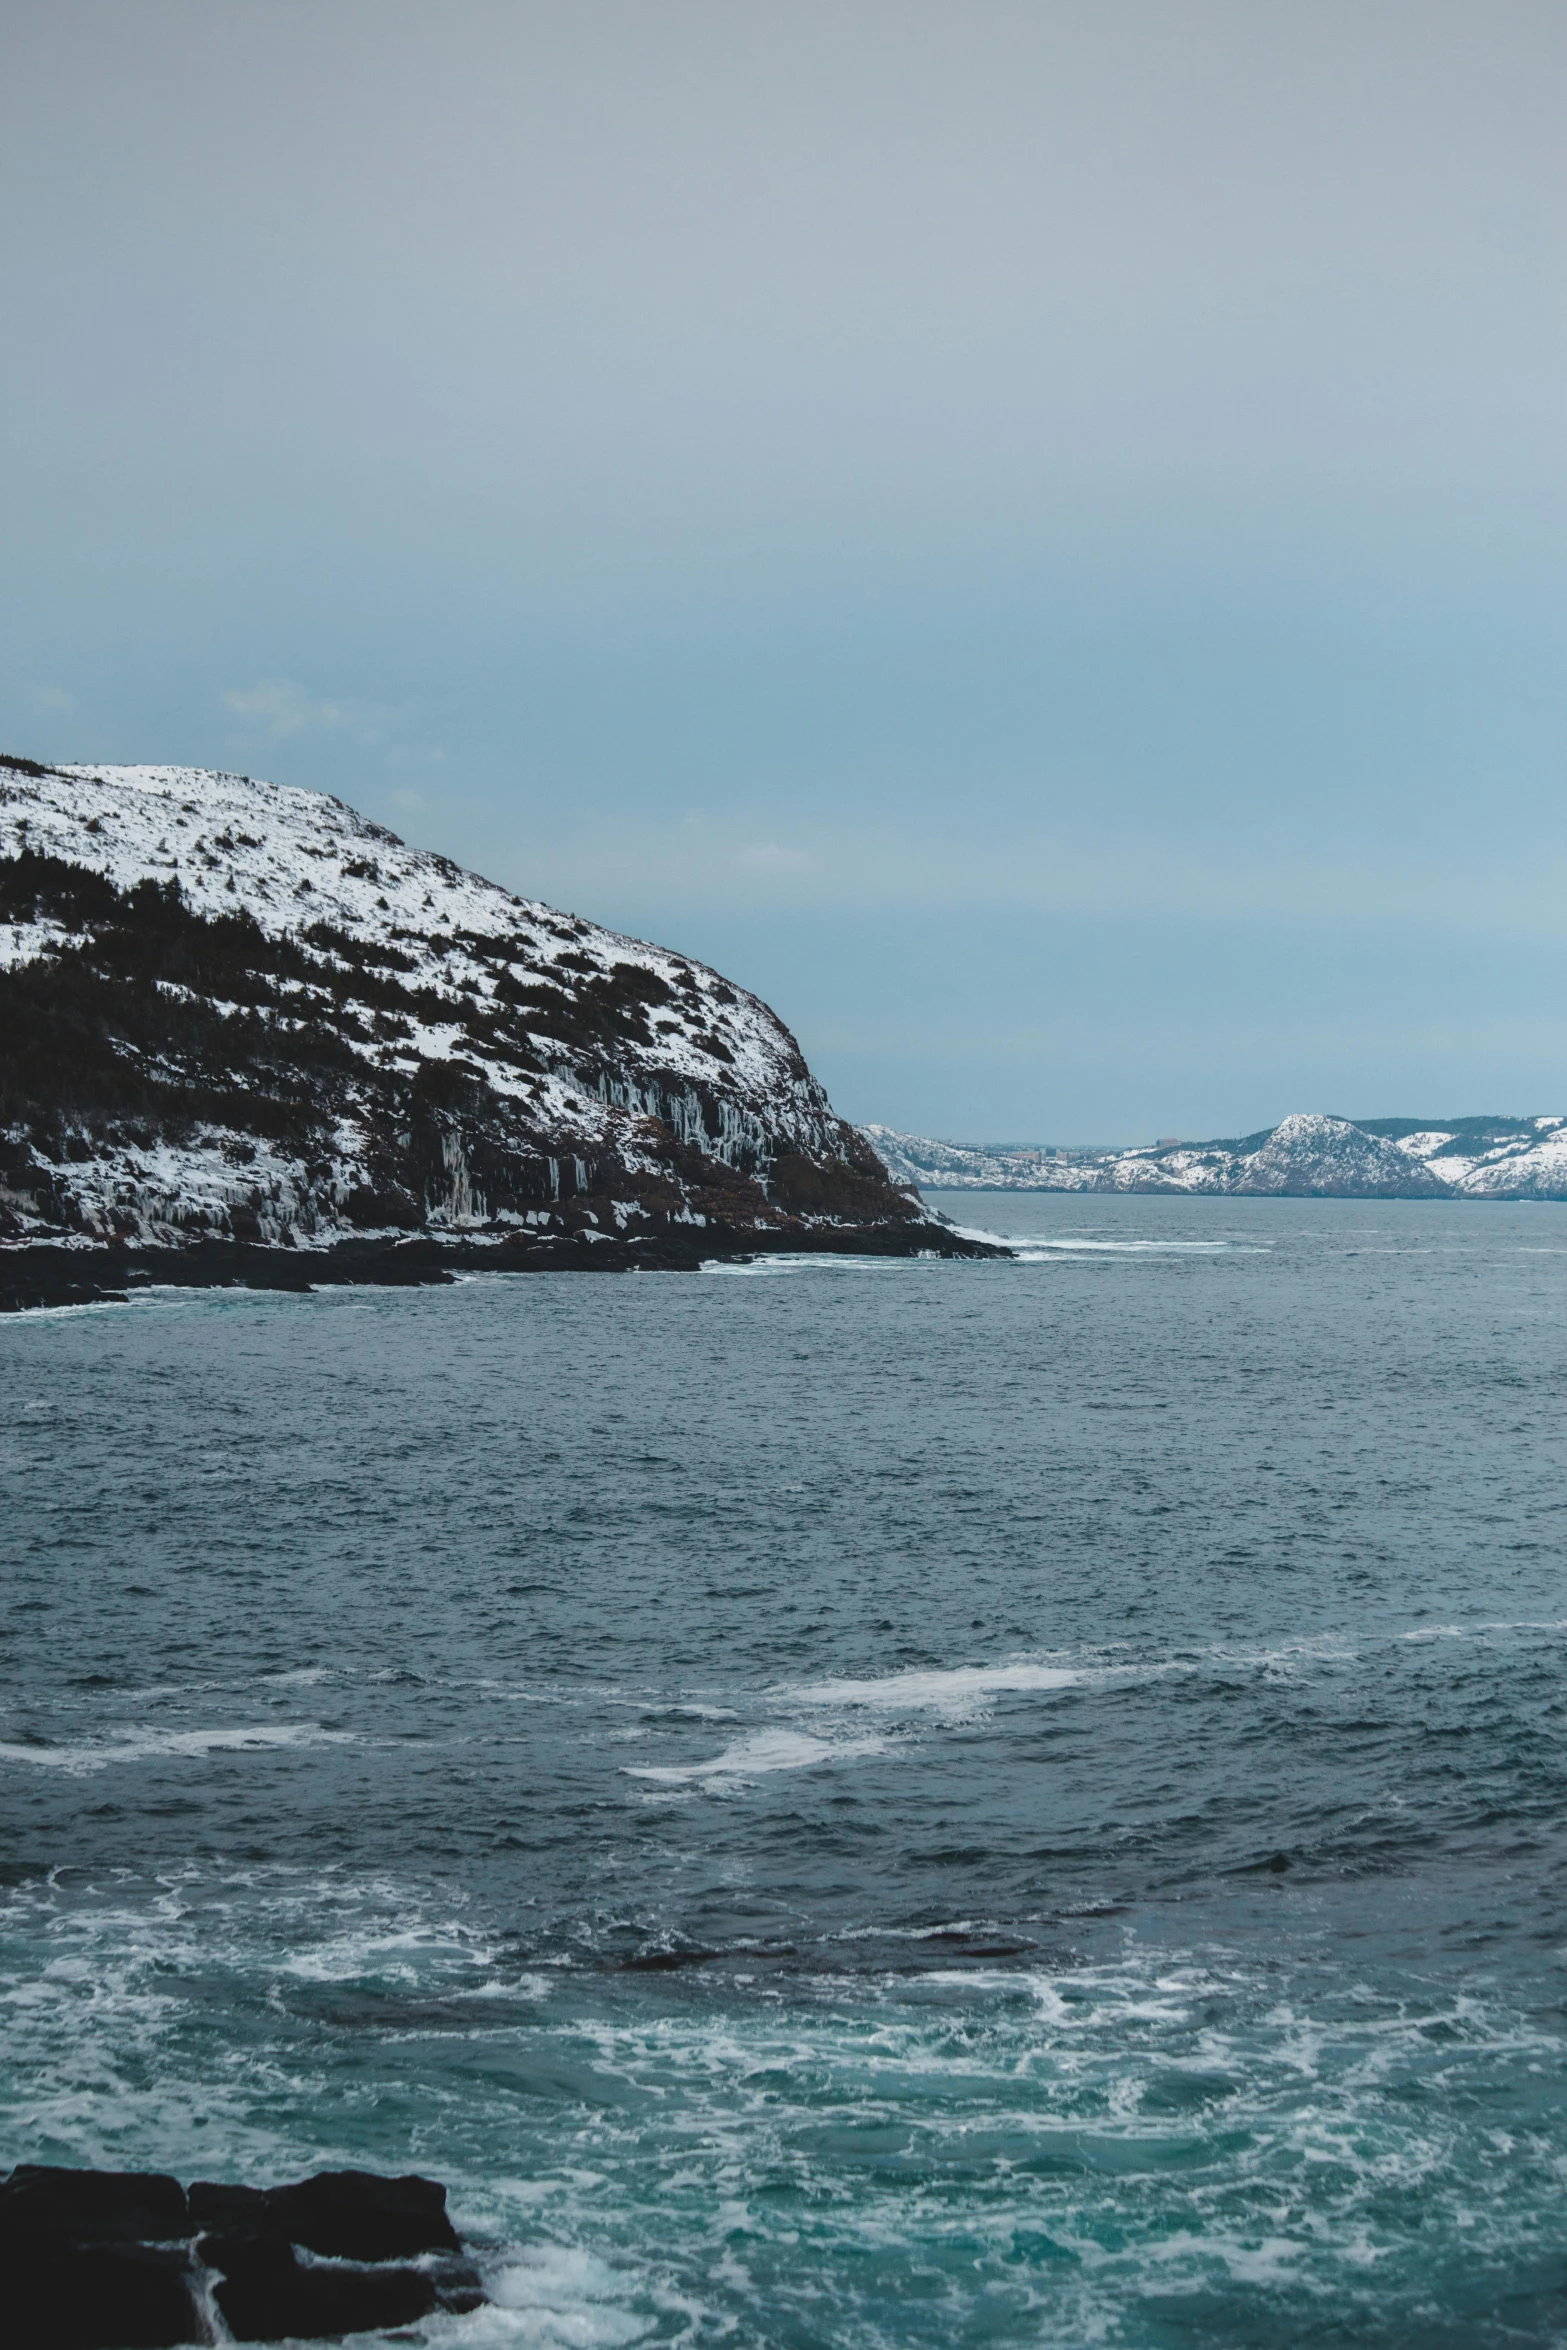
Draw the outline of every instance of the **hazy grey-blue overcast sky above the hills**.
<instances>
[{"instance_id":1,"label":"hazy grey-blue overcast sky above the hills","mask_svg":"<svg viewBox=\"0 0 1567 2350\"><path fill-rule=\"evenodd\" d=\"M0 743L961 1140L1567 1109L1560 0L0 0Z\"/></svg>"}]
</instances>

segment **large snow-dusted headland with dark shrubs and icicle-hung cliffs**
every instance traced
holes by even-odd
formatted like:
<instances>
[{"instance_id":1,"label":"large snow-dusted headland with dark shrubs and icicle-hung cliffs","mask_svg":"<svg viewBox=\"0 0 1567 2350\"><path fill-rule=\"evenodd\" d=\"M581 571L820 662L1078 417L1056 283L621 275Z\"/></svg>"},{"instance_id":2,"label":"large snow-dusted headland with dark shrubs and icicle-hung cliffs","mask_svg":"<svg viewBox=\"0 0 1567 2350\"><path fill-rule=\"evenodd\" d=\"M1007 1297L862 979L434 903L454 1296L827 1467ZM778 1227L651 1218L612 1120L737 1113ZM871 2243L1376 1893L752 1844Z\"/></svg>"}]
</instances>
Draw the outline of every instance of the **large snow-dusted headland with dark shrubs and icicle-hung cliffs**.
<instances>
[{"instance_id":1,"label":"large snow-dusted headland with dark shrubs and icicle-hung cliffs","mask_svg":"<svg viewBox=\"0 0 1567 2350\"><path fill-rule=\"evenodd\" d=\"M0 1243L923 1224L787 1027L338 799L0 759Z\"/></svg>"}]
</instances>

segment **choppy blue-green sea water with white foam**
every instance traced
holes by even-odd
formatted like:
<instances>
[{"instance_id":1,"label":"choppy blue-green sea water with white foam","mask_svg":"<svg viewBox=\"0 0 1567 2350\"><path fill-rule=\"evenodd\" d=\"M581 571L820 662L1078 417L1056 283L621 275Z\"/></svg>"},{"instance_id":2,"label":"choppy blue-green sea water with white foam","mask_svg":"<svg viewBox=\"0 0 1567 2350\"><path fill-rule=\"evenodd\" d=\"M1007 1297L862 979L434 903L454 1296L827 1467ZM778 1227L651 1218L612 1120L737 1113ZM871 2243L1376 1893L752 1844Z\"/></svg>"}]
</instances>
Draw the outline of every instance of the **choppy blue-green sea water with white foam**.
<instances>
[{"instance_id":1,"label":"choppy blue-green sea water with white foam","mask_svg":"<svg viewBox=\"0 0 1567 2350\"><path fill-rule=\"evenodd\" d=\"M1567 2343L1567 1213L0 1325L0 2160L399 2341Z\"/></svg>"}]
</instances>

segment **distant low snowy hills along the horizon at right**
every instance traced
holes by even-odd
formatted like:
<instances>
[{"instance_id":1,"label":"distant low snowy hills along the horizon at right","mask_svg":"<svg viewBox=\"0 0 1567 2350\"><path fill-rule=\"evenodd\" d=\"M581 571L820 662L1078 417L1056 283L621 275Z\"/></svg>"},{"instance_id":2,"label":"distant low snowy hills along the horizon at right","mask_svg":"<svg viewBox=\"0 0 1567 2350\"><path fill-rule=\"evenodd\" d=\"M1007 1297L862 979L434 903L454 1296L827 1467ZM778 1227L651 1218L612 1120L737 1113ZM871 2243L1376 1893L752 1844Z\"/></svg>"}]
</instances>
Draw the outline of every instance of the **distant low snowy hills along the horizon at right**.
<instances>
[{"instance_id":1,"label":"distant low snowy hills along the horizon at right","mask_svg":"<svg viewBox=\"0 0 1567 2350\"><path fill-rule=\"evenodd\" d=\"M968 1149L867 1126L895 1182L926 1191L1215 1191L1285 1198L1567 1198L1567 1116L1327 1119L1236 1142L1128 1152Z\"/></svg>"}]
</instances>

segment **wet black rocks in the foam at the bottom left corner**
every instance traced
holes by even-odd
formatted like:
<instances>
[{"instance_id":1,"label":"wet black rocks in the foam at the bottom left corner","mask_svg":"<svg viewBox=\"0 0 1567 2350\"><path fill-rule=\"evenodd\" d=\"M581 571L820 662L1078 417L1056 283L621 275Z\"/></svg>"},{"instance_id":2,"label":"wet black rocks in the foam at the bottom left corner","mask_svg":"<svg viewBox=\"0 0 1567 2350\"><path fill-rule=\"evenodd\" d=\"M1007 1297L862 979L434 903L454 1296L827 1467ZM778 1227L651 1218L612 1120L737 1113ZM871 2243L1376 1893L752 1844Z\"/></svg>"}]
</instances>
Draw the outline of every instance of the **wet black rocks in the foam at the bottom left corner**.
<instances>
[{"instance_id":1,"label":"wet black rocks in the foam at the bottom left corner","mask_svg":"<svg viewBox=\"0 0 1567 2350\"><path fill-rule=\"evenodd\" d=\"M181 2186L19 2164L0 2183L14 2350L327 2341L484 2308L435 2178Z\"/></svg>"}]
</instances>

